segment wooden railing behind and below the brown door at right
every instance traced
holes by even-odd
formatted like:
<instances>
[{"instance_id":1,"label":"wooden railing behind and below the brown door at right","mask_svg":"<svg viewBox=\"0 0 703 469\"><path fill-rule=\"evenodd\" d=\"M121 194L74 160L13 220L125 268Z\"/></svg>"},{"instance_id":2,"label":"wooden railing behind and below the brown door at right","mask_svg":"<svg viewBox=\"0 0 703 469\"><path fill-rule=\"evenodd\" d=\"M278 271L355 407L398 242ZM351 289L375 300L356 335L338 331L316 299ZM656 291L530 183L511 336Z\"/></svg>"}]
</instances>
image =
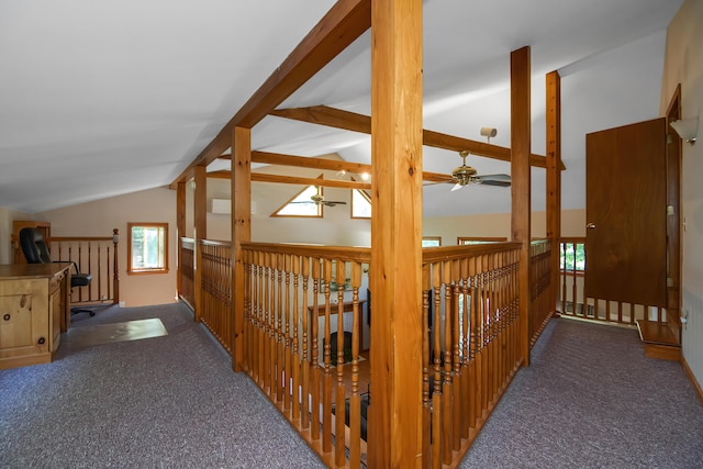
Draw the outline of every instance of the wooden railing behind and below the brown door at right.
<instances>
[{"instance_id":1,"label":"wooden railing behind and below the brown door at right","mask_svg":"<svg viewBox=\"0 0 703 469\"><path fill-rule=\"evenodd\" d=\"M583 289L585 238L563 237L559 249L561 277L557 310L561 315L626 325L635 325L635 321L641 319L666 322L666 310L660 306L632 304L585 295Z\"/></svg>"}]
</instances>

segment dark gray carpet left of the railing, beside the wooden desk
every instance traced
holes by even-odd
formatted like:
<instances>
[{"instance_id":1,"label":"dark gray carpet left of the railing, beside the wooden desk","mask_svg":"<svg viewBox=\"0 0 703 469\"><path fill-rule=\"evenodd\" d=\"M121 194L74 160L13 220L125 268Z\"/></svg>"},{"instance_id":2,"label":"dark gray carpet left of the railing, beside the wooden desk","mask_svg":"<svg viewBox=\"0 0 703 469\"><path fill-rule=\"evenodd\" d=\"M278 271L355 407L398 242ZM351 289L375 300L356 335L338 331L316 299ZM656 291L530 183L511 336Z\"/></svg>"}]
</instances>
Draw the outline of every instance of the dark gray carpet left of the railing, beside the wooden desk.
<instances>
[{"instance_id":1,"label":"dark gray carpet left of the railing, beside the wooden desk","mask_svg":"<svg viewBox=\"0 0 703 469\"><path fill-rule=\"evenodd\" d=\"M159 317L168 335L74 347L0 371L2 468L324 467L188 309L118 309L75 326Z\"/></svg>"}]
</instances>

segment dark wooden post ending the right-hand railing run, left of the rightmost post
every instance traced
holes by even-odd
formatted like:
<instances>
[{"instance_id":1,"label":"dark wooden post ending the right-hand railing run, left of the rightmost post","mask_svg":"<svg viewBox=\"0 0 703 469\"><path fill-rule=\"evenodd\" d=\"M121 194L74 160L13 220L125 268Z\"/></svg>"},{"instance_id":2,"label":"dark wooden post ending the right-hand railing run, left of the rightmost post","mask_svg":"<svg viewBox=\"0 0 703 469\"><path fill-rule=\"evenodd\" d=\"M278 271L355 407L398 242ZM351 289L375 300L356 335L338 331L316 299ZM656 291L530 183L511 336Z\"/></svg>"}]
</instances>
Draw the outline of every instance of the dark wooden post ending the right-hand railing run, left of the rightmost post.
<instances>
[{"instance_id":1,"label":"dark wooden post ending the right-hand railing run, left of the rightmost post","mask_svg":"<svg viewBox=\"0 0 703 469\"><path fill-rule=\"evenodd\" d=\"M520 249L518 299L520 340L518 351L523 365L529 365L529 216L531 216L531 65L529 47L513 51L510 55L511 75L511 176L513 242L522 243Z\"/></svg>"}]
</instances>

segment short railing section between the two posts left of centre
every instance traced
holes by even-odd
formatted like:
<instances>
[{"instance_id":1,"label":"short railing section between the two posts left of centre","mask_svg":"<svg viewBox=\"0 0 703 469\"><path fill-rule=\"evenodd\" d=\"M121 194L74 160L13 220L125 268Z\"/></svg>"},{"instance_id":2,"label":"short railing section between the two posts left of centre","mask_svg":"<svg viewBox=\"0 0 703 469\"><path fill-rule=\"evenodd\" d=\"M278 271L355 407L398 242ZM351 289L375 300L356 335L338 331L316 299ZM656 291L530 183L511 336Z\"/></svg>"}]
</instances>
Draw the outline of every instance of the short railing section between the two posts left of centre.
<instances>
[{"instance_id":1,"label":"short railing section between the two posts left of centre","mask_svg":"<svg viewBox=\"0 0 703 469\"><path fill-rule=\"evenodd\" d=\"M197 276L200 284L196 284L200 292L197 317L232 355L232 243L201 239L197 256L200 269Z\"/></svg>"}]
</instances>

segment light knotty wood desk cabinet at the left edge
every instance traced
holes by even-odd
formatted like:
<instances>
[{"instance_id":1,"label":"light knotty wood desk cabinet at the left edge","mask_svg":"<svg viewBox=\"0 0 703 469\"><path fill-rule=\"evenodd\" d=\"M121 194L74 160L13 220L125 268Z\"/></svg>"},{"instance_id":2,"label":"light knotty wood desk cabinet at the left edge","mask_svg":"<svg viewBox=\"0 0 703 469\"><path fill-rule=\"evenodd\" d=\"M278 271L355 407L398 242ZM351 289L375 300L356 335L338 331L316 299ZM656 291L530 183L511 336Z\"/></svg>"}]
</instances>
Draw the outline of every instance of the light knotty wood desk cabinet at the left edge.
<instances>
[{"instance_id":1,"label":"light knotty wood desk cabinet at the left edge","mask_svg":"<svg viewBox=\"0 0 703 469\"><path fill-rule=\"evenodd\" d=\"M52 361L70 319L69 267L0 265L0 369Z\"/></svg>"}]
</instances>

